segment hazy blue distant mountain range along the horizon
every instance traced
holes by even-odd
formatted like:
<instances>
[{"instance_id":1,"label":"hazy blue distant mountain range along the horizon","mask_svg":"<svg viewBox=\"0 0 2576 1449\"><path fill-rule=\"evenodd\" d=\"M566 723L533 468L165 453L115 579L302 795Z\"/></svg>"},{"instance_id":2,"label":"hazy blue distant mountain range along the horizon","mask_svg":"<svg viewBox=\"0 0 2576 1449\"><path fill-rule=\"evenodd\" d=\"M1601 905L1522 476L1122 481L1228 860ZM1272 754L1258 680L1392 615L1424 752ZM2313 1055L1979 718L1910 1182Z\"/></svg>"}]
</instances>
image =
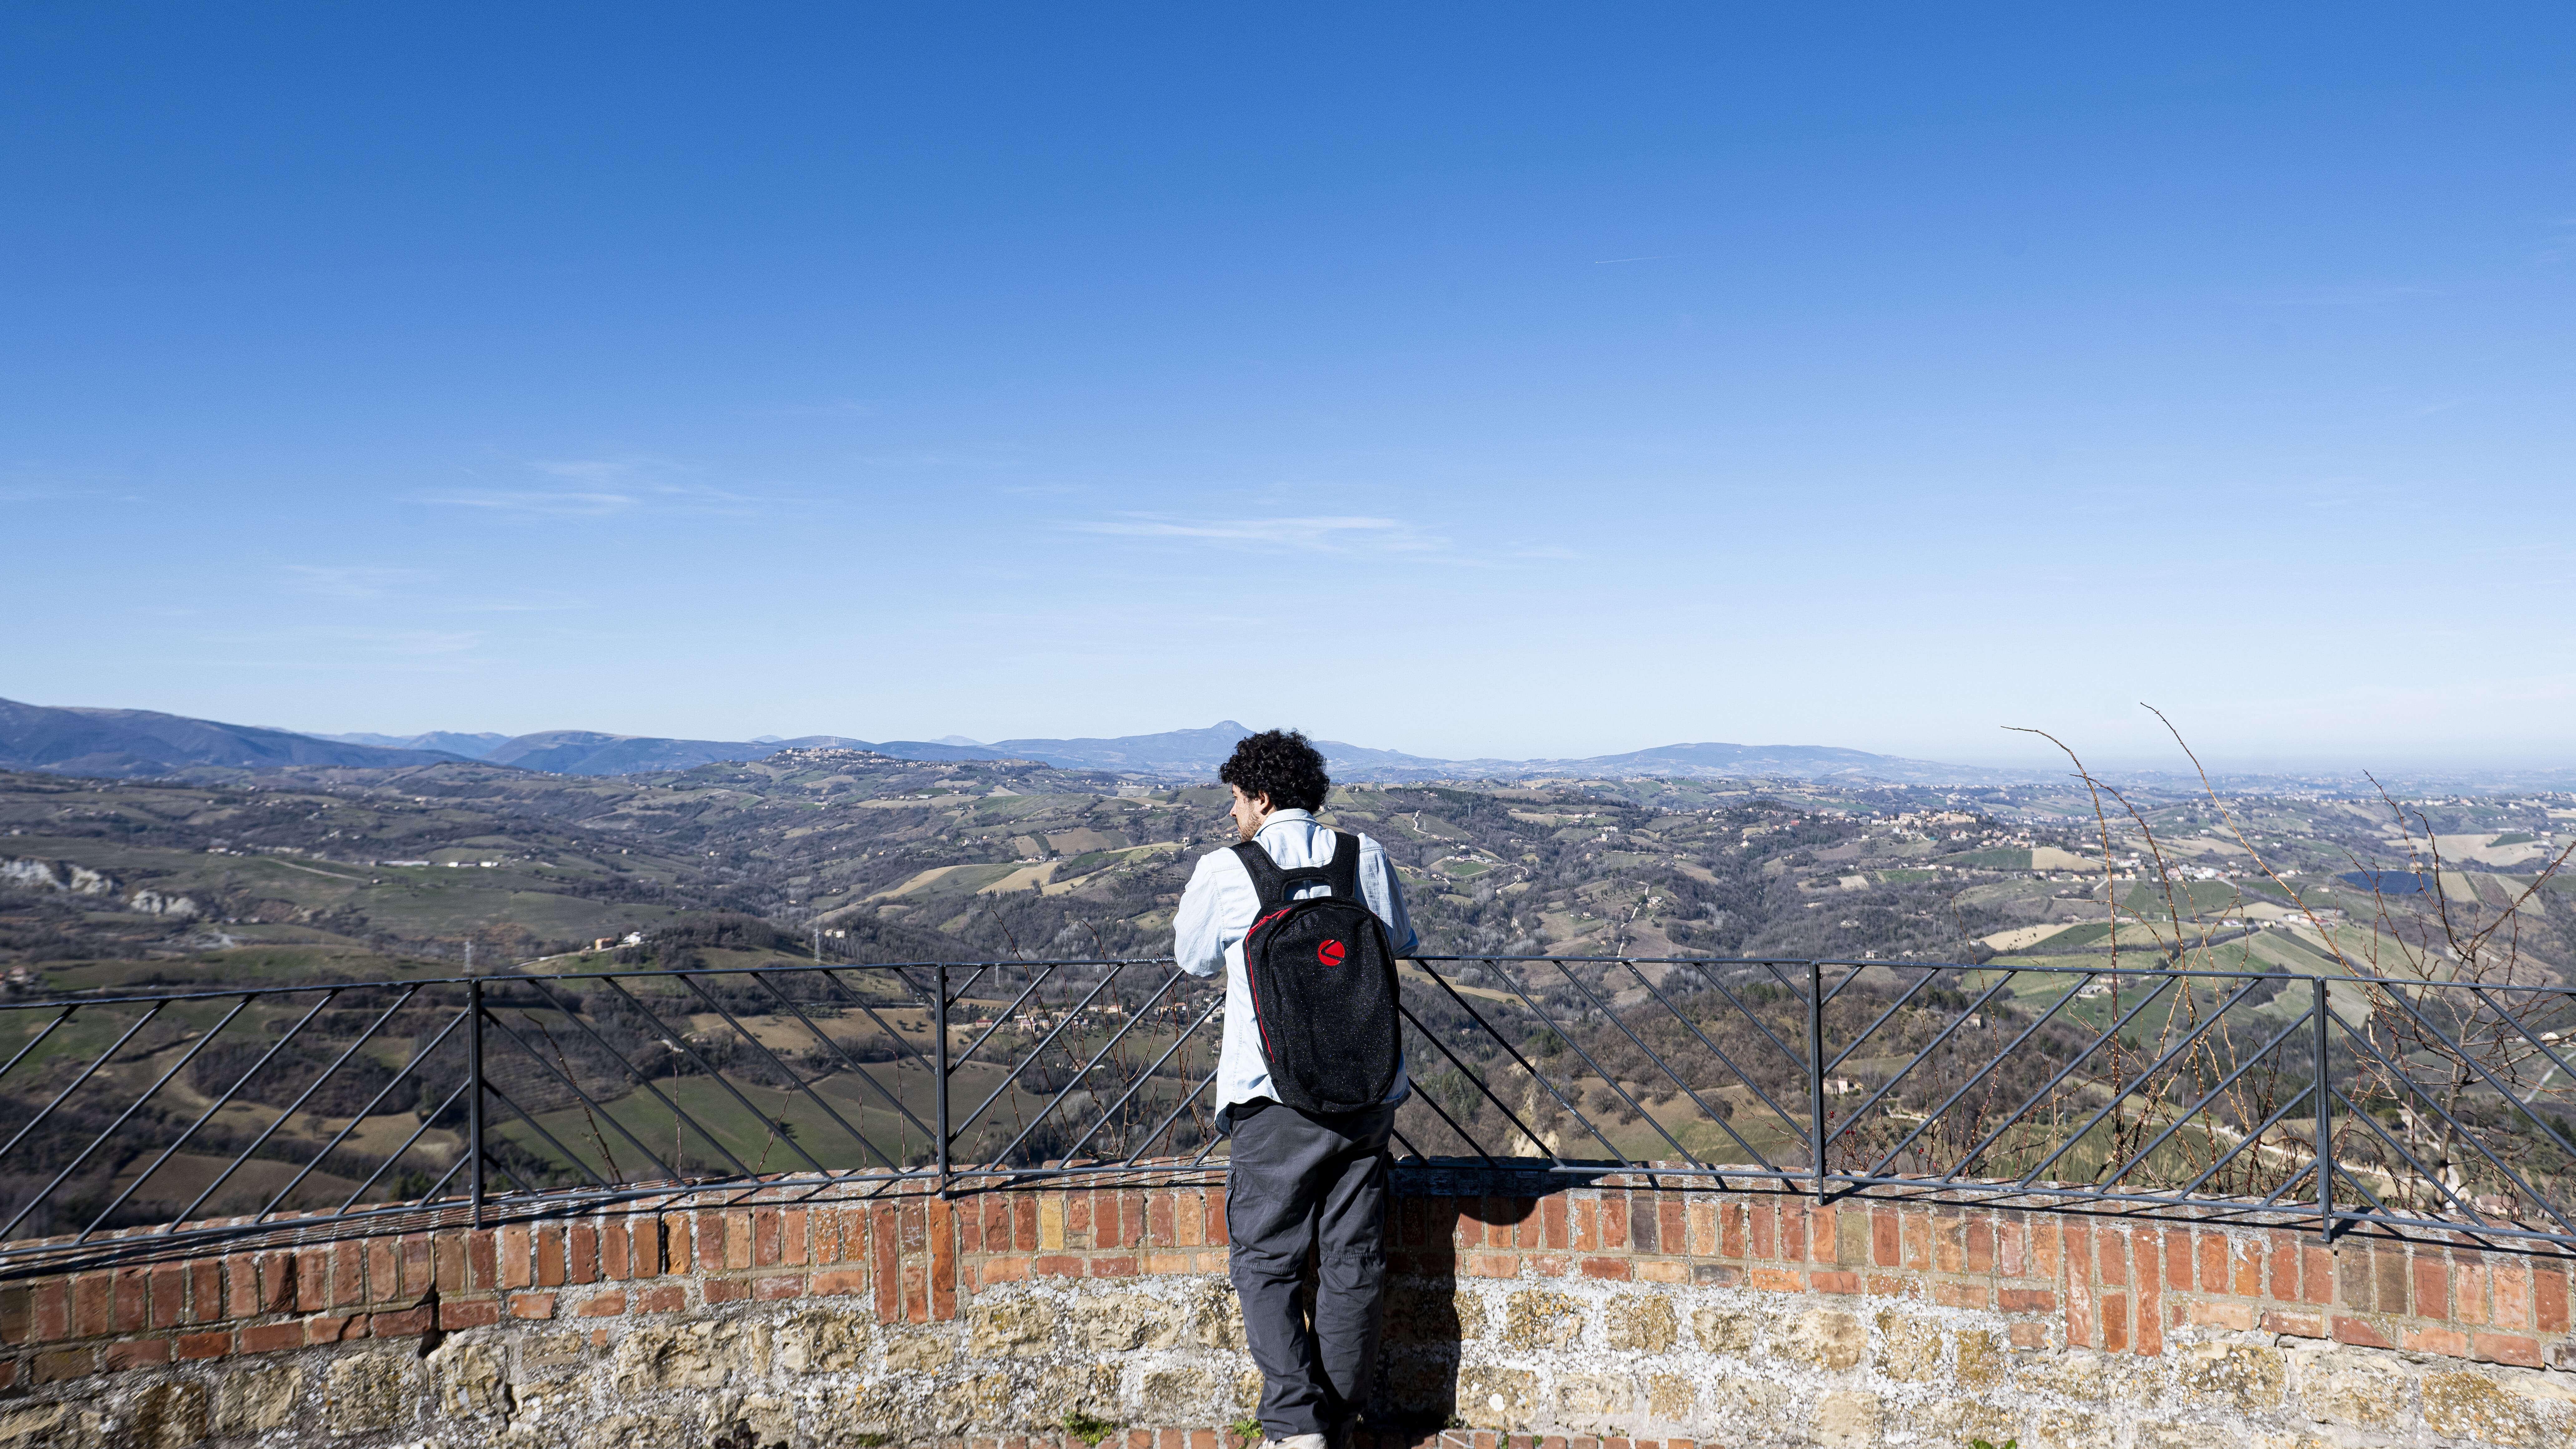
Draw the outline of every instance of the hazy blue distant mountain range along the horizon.
<instances>
[{"instance_id":1,"label":"hazy blue distant mountain range along the horizon","mask_svg":"<svg viewBox=\"0 0 2576 1449\"><path fill-rule=\"evenodd\" d=\"M904 761L1041 761L1056 768L1113 771L1159 779L1208 779L1249 735L1224 719L1206 730L1121 735L1113 740L850 740L801 735L793 740L665 740L605 735L598 730L541 730L536 735L453 732L428 735L296 735L255 724L219 724L155 714L149 709L49 709L0 699L0 768L82 776L155 776L185 768L353 766L394 768L438 761L482 761L526 771L618 776L685 771L716 761L760 761L778 750L876 750ZM1538 776L1685 776L1685 779L1873 779L1904 784L1991 784L2027 779L2009 771L1945 766L1837 750L1829 745L1659 745L1623 755L1574 761L1440 761L1401 750L1370 750L1342 740L1316 740L1337 779L1538 779Z\"/></svg>"}]
</instances>

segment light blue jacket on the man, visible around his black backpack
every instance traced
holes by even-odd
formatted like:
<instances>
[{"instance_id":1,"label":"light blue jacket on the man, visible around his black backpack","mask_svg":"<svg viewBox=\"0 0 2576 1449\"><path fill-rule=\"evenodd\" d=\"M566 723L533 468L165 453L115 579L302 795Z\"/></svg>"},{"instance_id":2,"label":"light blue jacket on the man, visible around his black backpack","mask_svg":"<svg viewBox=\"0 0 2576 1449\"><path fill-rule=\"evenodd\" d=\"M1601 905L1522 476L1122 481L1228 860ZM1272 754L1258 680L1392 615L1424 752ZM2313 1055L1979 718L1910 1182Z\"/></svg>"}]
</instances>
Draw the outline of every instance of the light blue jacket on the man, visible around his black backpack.
<instances>
[{"instance_id":1,"label":"light blue jacket on the man, visible around his black backpack","mask_svg":"<svg viewBox=\"0 0 2576 1449\"><path fill-rule=\"evenodd\" d=\"M1255 841L1270 851L1283 871L1321 866L1334 848L1332 825L1303 810L1270 812ZM1309 895L1329 892L1321 884L1293 892L1296 900ZM1360 835L1360 897L1386 923L1386 944L1399 957L1412 957L1417 938L1414 920L1404 913L1404 887L1386 861L1386 848L1368 835ZM1213 977L1218 967L1226 972L1226 1036L1216 1060L1216 1101L1211 1104L1218 1111L1236 1101L1275 1098L1270 1062L1262 1060L1260 1026L1252 1021L1252 987L1244 982L1244 933L1252 931L1260 913L1262 897L1252 890L1252 874L1226 848L1198 856L1190 890L1182 892L1180 913L1172 915L1172 957L1180 959L1180 969L1193 977ZM1386 1101L1404 1101L1409 1091L1412 1078L1399 1065L1396 1085Z\"/></svg>"}]
</instances>

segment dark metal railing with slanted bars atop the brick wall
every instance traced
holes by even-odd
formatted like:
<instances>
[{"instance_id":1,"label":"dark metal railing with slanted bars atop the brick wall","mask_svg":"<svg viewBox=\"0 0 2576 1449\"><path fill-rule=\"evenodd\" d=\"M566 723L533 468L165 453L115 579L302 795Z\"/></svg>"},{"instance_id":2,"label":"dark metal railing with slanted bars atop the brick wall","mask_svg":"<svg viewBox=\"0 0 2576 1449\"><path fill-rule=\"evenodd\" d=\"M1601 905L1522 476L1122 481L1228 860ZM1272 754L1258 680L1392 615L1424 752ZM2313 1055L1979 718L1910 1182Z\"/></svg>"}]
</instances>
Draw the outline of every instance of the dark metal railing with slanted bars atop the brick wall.
<instances>
[{"instance_id":1,"label":"dark metal railing with slanted bars atop the brick wall","mask_svg":"<svg viewBox=\"0 0 2576 1449\"><path fill-rule=\"evenodd\" d=\"M2576 1245L2576 993L1404 964L1399 1163ZM670 1191L1213 1176L1221 980L770 964L0 1003L0 1276Z\"/></svg>"}]
</instances>

